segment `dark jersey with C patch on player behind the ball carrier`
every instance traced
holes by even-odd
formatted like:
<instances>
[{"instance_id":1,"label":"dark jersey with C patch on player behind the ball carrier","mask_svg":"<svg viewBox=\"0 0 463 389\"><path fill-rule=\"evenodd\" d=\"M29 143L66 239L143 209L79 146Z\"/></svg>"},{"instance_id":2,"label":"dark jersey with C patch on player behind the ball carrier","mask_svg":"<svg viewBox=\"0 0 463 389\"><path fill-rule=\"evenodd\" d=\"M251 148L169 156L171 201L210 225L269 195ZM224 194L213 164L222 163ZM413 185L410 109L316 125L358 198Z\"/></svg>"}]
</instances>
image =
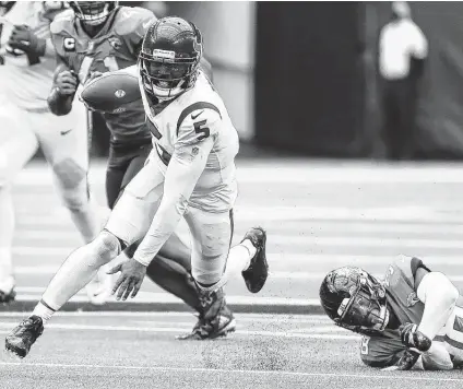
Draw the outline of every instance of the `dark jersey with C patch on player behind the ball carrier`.
<instances>
[{"instance_id":1,"label":"dark jersey with C patch on player behind the ball carrier","mask_svg":"<svg viewBox=\"0 0 463 389\"><path fill-rule=\"evenodd\" d=\"M83 85L92 72L108 72L136 63L138 49L147 27L155 20L142 8L118 7L102 31L90 37L74 12L62 12L50 25L57 55L75 72ZM120 113L103 115L114 143L150 142L142 101L130 104Z\"/></svg>"}]
</instances>

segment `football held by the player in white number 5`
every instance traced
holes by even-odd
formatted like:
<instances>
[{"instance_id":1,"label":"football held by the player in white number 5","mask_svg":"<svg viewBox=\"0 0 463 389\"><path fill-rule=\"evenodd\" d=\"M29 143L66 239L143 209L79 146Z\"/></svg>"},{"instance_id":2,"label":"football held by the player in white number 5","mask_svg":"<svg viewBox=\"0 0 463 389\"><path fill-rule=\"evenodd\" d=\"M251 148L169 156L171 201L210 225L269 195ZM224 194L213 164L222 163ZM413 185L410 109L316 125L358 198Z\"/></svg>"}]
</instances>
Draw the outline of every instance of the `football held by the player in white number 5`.
<instances>
[{"instance_id":1,"label":"football held by the player in white number 5","mask_svg":"<svg viewBox=\"0 0 463 389\"><path fill-rule=\"evenodd\" d=\"M115 114L142 98L136 75L124 71L104 73L90 81L80 97L90 109Z\"/></svg>"}]
</instances>

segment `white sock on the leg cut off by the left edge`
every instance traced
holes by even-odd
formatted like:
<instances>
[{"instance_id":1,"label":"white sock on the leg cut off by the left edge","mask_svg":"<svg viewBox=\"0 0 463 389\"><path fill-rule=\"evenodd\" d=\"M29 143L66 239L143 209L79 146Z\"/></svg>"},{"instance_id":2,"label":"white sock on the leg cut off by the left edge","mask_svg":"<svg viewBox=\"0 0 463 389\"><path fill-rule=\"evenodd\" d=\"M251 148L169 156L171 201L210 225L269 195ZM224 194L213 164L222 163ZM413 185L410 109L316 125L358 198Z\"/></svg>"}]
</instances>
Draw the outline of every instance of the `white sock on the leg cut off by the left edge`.
<instances>
[{"instance_id":1,"label":"white sock on the leg cut off by the left edge","mask_svg":"<svg viewBox=\"0 0 463 389\"><path fill-rule=\"evenodd\" d=\"M0 187L0 290L9 292L14 284L12 245L14 208L9 187Z\"/></svg>"}]
</instances>

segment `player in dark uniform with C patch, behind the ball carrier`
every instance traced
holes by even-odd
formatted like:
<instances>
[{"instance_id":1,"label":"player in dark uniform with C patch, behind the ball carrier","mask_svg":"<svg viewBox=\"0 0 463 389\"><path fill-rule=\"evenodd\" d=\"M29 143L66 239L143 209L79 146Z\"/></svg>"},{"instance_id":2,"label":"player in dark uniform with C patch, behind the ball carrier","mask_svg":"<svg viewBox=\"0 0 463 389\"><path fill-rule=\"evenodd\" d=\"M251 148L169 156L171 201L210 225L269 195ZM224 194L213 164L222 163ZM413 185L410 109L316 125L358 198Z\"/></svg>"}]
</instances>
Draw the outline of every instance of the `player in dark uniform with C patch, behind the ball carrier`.
<instances>
[{"instance_id":1,"label":"player in dark uniform with C patch, behind the ball carrier","mask_svg":"<svg viewBox=\"0 0 463 389\"><path fill-rule=\"evenodd\" d=\"M70 111L79 85L87 85L105 72L135 64L143 36L156 20L151 11L118 7L116 1L71 1L70 8L50 27L59 64L48 102L56 115ZM210 68L206 61L202 63ZM110 130L106 196L112 209L121 191L143 167L152 150L152 135L145 122L141 95L139 101L117 111L103 113L103 117ZM191 279L188 227L182 229L187 234L170 237L149 267L147 274L198 311L198 323L187 338L225 335L236 326L233 313L225 304L212 320L214 326L204 328L204 309ZM130 258L135 249L136 244L124 255Z\"/></svg>"}]
</instances>

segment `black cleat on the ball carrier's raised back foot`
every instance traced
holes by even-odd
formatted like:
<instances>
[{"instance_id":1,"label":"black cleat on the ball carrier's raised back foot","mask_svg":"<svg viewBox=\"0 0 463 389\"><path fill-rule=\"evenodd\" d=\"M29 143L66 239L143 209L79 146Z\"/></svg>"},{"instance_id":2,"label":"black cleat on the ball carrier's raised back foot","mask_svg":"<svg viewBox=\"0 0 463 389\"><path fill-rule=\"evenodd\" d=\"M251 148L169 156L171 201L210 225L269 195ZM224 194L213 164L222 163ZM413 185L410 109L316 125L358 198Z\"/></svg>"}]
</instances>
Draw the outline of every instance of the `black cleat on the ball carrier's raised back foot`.
<instances>
[{"instance_id":1,"label":"black cleat on the ball carrier's raised back foot","mask_svg":"<svg viewBox=\"0 0 463 389\"><path fill-rule=\"evenodd\" d=\"M249 292L258 293L269 276L269 263L265 257L266 233L262 227L253 227L246 233L241 241L246 239L251 240L257 251L249 268L241 274Z\"/></svg>"}]
</instances>

